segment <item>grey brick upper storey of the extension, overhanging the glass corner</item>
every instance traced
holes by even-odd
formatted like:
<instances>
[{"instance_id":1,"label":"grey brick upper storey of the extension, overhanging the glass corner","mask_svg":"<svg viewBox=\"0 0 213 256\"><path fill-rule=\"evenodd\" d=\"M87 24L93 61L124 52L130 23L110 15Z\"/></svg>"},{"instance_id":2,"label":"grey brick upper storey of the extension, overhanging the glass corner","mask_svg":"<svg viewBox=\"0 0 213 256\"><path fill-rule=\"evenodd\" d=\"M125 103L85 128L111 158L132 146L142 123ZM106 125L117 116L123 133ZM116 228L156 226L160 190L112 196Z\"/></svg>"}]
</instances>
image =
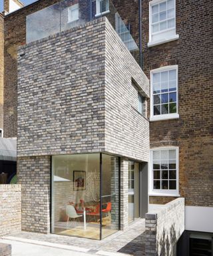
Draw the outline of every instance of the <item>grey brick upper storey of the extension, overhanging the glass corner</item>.
<instances>
[{"instance_id":1,"label":"grey brick upper storey of the extension, overhanging the glass corner","mask_svg":"<svg viewBox=\"0 0 213 256\"><path fill-rule=\"evenodd\" d=\"M148 96L148 79L107 19L21 47L18 73L18 156L106 151L148 161L148 121L129 97L132 78Z\"/></svg>"}]
</instances>

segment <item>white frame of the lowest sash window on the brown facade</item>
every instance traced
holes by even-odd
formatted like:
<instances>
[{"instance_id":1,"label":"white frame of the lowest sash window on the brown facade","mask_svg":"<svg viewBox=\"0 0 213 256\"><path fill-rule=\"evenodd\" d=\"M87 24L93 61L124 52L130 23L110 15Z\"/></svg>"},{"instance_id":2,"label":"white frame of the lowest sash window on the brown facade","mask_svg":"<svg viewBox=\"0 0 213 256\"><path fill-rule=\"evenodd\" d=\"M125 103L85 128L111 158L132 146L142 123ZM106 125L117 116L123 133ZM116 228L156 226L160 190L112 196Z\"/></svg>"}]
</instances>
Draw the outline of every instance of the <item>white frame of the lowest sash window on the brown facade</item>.
<instances>
[{"instance_id":1,"label":"white frame of the lowest sash window on the brown facade","mask_svg":"<svg viewBox=\"0 0 213 256\"><path fill-rule=\"evenodd\" d=\"M176 189L154 189L153 188L153 151L159 150L176 150ZM163 196L163 197L180 197L179 194L179 147L156 147L150 149L150 165L149 165L149 193L150 196Z\"/></svg>"}]
</instances>

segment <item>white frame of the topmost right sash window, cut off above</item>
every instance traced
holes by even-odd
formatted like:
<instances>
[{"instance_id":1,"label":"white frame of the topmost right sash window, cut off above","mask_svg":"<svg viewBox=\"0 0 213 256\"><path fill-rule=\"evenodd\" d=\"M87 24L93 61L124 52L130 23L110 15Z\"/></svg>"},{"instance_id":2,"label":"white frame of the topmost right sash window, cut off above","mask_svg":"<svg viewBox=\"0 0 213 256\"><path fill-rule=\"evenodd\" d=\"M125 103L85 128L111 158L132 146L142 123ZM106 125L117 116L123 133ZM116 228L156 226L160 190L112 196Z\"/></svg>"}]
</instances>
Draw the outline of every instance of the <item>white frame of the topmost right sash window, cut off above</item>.
<instances>
[{"instance_id":1,"label":"white frame of the topmost right sash window, cut off above","mask_svg":"<svg viewBox=\"0 0 213 256\"><path fill-rule=\"evenodd\" d=\"M161 43L167 43L170 41L174 41L179 38L179 35L176 35L176 0L174 0L174 28L170 29L164 29L163 31L158 31L156 34L164 33L166 31L173 30L175 31L174 35L168 35L168 37L165 37L164 39L159 39L156 41L152 40L152 5L155 5L156 3L162 3L165 0L152 0L149 2L149 42L148 47L152 47L155 45L160 45Z\"/></svg>"}]
</instances>

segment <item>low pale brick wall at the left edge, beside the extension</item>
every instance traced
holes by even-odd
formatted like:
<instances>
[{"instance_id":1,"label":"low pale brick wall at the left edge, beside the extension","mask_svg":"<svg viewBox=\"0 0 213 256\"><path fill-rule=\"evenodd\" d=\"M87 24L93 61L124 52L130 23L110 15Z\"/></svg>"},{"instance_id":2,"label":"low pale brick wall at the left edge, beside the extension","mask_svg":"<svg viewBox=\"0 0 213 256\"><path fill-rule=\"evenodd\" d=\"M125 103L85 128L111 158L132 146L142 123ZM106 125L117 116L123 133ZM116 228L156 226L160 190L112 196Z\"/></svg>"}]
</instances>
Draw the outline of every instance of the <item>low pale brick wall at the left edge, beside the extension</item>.
<instances>
[{"instance_id":1,"label":"low pale brick wall at the left edge, beside the extension","mask_svg":"<svg viewBox=\"0 0 213 256\"><path fill-rule=\"evenodd\" d=\"M0 185L0 236L19 231L21 231L21 185Z\"/></svg>"}]
</instances>

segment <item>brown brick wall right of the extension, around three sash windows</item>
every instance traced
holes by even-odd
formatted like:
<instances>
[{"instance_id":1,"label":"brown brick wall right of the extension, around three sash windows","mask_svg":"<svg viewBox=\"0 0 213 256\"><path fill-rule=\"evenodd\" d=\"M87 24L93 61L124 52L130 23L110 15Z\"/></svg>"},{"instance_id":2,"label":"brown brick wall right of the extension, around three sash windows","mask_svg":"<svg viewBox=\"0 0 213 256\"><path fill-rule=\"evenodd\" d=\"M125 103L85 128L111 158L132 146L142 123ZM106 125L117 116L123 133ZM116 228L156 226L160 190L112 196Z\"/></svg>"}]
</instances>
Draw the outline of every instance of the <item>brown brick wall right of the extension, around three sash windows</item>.
<instances>
[{"instance_id":1,"label":"brown brick wall right of the extension, around three sash windows","mask_svg":"<svg viewBox=\"0 0 213 256\"><path fill-rule=\"evenodd\" d=\"M186 205L212 207L212 1L176 0L179 39L155 47L147 47L148 4L142 1L144 72L149 78L152 69L178 65L180 115L150 123L150 147L178 146L180 195ZM158 197L150 201L160 203Z\"/></svg>"}]
</instances>

